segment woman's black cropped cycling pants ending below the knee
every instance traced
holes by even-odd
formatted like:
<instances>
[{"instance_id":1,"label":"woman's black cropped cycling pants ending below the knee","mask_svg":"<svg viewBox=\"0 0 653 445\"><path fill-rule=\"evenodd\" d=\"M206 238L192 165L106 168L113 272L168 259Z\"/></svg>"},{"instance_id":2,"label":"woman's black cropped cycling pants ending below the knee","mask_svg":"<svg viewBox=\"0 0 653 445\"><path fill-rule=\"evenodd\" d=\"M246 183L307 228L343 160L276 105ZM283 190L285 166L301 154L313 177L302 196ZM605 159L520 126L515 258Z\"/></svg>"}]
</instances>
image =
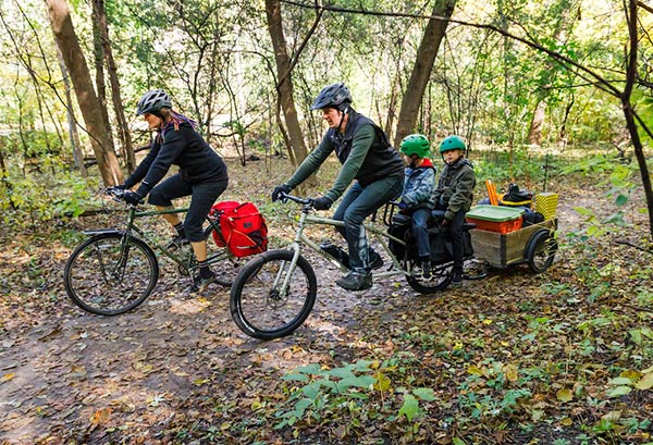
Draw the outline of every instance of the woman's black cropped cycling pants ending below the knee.
<instances>
[{"instance_id":1,"label":"woman's black cropped cycling pants ending below the knee","mask_svg":"<svg viewBox=\"0 0 653 445\"><path fill-rule=\"evenodd\" d=\"M211 210L211 206L226 189L229 181L217 183L188 183L175 174L157 185L149 194L148 202L152 206L172 207L172 200L190 195L190 206L184 220L186 238L192 243L204 240L201 226Z\"/></svg>"}]
</instances>

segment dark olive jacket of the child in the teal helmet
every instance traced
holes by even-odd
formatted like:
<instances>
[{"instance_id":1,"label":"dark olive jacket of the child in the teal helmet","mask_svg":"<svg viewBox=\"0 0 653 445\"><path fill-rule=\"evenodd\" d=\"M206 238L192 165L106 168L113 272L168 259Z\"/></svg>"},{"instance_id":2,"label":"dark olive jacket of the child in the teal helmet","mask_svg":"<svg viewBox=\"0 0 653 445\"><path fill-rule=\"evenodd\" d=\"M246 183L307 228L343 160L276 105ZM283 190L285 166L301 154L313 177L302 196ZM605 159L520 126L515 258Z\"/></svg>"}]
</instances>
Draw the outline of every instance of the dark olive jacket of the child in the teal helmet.
<instances>
[{"instance_id":1,"label":"dark olive jacket of the child in the teal helmet","mask_svg":"<svg viewBox=\"0 0 653 445\"><path fill-rule=\"evenodd\" d=\"M473 187L476 187L473 165L461 158L453 165L445 163L431 200L435 203L435 208L446 207L444 218L451 221L460 210L464 212L469 210Z\"/></svg>"}]
</instances>

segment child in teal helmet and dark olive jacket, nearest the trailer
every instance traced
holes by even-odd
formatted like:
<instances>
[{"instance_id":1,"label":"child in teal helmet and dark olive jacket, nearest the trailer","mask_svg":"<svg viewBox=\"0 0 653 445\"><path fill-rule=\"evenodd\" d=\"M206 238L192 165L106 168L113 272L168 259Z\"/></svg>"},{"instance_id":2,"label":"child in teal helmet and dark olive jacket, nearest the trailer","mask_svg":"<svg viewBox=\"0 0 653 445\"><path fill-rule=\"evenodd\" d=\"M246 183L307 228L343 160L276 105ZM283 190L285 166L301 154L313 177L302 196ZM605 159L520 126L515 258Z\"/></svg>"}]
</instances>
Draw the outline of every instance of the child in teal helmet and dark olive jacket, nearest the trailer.
<instances>
[{"instance_id":1,"label":"child in teal helmet and dark olive jacket, nearest the trailer","mask_svg":"<svg viewBox=\"0 0 653 445\"><path fill-rule=\"evenodd\" d=\"M435 210L442 210L444 213L442 224L449 227L454 257L452 280L454 286L463 282L463 224L465 214L471 207L472 191L476 186L473 165L465 158L466 149L465 139L460 136L449 136L440 143L444 169L431 196Z\"/></svg>"}]
</instances>

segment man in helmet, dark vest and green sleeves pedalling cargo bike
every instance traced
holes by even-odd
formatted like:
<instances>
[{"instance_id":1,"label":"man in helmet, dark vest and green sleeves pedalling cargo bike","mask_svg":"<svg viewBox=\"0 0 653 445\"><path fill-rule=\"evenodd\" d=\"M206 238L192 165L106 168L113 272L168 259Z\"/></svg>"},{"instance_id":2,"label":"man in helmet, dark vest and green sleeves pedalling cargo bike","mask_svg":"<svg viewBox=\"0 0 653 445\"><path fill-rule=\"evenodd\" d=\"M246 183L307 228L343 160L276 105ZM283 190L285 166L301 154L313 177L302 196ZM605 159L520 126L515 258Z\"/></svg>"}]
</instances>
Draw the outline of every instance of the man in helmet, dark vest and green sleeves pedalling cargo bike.
<instances>
[{"instance_id":1,"label":"man in helmet, dark vest and green sleeves pedalling cargo bike","mask_svg":"<svg viewBox=\"0 0 653 445\"><path fill-rule=\"evenodd\" d=\"M336 284L348 291L364 291L372 286L371 270L381 267L383 261L379 254L368 248L362 222L399 196L404 184L404 161L383 131L350 104L352 96L342 83L320 91L310 109L322 111L329 129L293 176L274 188L272 200L306 181L331 152L335 152L342 168L331 189L315 200L313 208L328 210L354 182L333 215L333 219L345 223L338 232L347 240L350 267L350 272L338 279Z\"/></svg>"}]
</instances>

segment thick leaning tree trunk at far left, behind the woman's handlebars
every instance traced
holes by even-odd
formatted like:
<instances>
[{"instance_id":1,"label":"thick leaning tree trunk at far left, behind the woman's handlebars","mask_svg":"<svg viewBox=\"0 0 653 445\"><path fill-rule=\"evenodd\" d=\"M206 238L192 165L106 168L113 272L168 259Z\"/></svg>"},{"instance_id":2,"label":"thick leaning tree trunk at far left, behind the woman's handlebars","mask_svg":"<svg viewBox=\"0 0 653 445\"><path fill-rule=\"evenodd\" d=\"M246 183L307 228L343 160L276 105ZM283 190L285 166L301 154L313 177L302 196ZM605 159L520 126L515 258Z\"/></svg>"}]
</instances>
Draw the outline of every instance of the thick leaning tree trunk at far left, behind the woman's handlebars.
<instances>
[{"instance_id":1,"label":"thick leaning tree trunk at far left, behind the woman's handlebars","mask_svg":"<svg viewBox=\"0 0 653 445\"><path fill-rule=\"evenodd\" d=\"M100 112L100 102L93 88L88 65L75 34L67 2L66 0L46 0L46 4L54 39L71 75L102 181L107 186L120 184L123 175L113 145L107 134Z\"/></svg>"}]
</instances>

